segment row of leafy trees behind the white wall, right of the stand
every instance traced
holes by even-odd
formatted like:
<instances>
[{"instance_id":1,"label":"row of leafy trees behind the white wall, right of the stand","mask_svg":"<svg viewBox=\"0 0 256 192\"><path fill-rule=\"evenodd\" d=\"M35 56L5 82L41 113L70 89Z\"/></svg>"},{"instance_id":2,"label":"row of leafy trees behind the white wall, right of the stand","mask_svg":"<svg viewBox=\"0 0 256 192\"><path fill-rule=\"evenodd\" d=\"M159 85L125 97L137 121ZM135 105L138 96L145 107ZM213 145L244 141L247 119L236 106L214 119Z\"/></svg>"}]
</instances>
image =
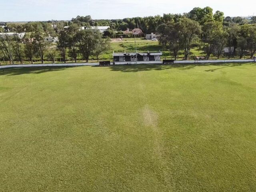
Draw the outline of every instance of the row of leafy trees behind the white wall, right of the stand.
<instances>
[{"instance_id":1,"label":"row of leafy trees behind the white wall, right of the stand","mask_svg":"<svg viewBox=\"0 0 256 192\"><path fill-rule=\"evenodd\" d=\"M168 48L176 59L180 50L184 51L187 60L193 46L204 47L206 59L214 54L217 58L223 53L224 47L228 49L228 58L236 51L240 58L245 54L252 58L256 52L256 26L244 24L242 26L223 26L220 17L202 22L182 17L176 21L171 20L158 26L160 44Z\"/></svg>"}]
</instances>

